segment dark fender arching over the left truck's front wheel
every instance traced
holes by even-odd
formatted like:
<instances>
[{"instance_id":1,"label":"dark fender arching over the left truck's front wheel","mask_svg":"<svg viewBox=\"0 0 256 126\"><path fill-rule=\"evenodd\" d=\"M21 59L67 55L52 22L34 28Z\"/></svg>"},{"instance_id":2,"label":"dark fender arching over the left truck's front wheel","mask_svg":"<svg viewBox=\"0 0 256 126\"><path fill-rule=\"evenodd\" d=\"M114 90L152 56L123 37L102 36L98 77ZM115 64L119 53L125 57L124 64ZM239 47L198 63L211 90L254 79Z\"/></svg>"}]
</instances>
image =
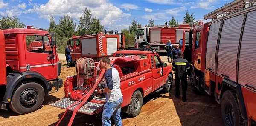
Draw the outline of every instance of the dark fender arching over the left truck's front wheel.
<instances>
[{"instance_id":1,"label":"dark fender arching over the left truck's front wheel","mask_svg":"<svg viewBox=\"0 0 256 126\"><path fill-rule=\"evenodd\" d=\"M5 92L5 95L3 97L3 102L4 103L9 103L10 100L8 101L8 99L12 98L12 94L13 94L13 91L15 90L15 87L20 83L20 81L22 81L24 79L29 80L29 78L40 79L42 82L44 82L41 85L43 87L46 87L44 90L45 91L49 90L47 80L44 78L44 76L42 76L39 73L36 73L36 72L9 73L9 75L7 76L6 92Z\"/></svg>"}]
</instances>

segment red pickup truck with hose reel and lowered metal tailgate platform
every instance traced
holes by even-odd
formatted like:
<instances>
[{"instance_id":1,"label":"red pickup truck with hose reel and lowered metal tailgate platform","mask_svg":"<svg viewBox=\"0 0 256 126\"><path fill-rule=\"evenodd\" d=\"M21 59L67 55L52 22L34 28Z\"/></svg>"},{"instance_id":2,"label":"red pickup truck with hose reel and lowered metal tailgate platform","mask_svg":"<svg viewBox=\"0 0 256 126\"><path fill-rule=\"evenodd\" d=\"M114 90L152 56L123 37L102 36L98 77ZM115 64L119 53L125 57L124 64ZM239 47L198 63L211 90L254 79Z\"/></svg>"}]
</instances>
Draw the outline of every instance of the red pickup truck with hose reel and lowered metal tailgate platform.
<instances>
[{"instance_id":1,"label":"red pickup truck with hose reel and lowered metal tailgate platform","mask_svg":"<svg viewBox=\"0 0 256 126\"><path fill-rule=\"evenodd\" d=\"M171 66L162 62L160 56L155 51L140 51L140 50L120 50L110 57L111 64L119 71L121 91L123 95L122 111L134 117L139 115L143 105L143 97L150 93L157 93L163 90L169 92L172 87L172 69ZM76 70L78 69L76 62ZM97 66L98 62L94 66ZM87 66L87 68L89 68ZM77 70L79 71L79 70ZM89 70L86 70L89 71ZM100 72L99 72L100 73ZM93 79L97 76L96 72ZM65 98L61 101L51 104L58 108L67 109L68 106L74 104L70 95L77 87L86 87L87 84L92 84L93 81L84 79L84 75L73 75L66 77L64 84ZM80 77L80 79L78 79ZM87 76L86 78L88 78ZM95 81L100 78L95 79ZM83 85L78 84L82 81ZM94 81L94 82L95 82ZM99 83L100 84L100 83ZM98 84L98 85L99 85ZM93 87L93 86L92 86ZM99 88L99 86L97 87ZM95 88L94 88L95 89ZM98 89L99 90L99 89ZM78 109L78 112L93 115L102 111L105 104L105 96L99 94L96 90L91 94L91 97ZM76 105L75 105L76 106ZM74 110L70 107L67 110Z\"/></svg>"}]
</instances>

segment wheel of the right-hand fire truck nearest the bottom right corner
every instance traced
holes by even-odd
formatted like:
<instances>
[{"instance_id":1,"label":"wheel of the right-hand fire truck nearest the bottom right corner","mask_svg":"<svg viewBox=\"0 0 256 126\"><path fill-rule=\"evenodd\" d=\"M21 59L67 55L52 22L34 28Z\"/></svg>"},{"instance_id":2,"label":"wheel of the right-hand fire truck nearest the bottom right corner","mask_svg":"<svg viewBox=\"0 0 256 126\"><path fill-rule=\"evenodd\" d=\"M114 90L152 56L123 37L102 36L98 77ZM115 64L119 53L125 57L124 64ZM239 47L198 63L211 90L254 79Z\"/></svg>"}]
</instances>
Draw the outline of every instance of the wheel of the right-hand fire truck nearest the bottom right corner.
<instances>
[{"instance_id":1,"label":"wheel of the right-hand fire truck nearest the bottom right corner","mask_svg":"<svg viewBox=\"0 0 256 126\"><path fill-rule=\"evenodd\" d=\"M227 90L221 98L221 115L224 126L243 126L243 118L239 110L236 92Z\"/></svg>"}]
</instances>

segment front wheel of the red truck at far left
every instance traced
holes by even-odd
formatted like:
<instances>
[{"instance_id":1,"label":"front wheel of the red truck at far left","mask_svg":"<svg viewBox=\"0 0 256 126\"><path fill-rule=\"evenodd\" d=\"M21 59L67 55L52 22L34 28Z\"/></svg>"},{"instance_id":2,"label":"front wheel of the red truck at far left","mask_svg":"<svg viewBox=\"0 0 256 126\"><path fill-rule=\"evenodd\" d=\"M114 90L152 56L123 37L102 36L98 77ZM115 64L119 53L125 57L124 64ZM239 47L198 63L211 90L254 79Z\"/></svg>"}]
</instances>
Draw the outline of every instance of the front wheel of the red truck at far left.
<instances>
[{"instance_id":1,"label":"front wheel of the red truck at far left","mask_svg":"<svg viewBox=\"0 0 256 126\"><path fill-rule=\"evenodd\" d=\"M19 114L37 110L44 101L44 88L35 82L20 85L12 96L10 108Z\"/></svg>"}]
</instances>

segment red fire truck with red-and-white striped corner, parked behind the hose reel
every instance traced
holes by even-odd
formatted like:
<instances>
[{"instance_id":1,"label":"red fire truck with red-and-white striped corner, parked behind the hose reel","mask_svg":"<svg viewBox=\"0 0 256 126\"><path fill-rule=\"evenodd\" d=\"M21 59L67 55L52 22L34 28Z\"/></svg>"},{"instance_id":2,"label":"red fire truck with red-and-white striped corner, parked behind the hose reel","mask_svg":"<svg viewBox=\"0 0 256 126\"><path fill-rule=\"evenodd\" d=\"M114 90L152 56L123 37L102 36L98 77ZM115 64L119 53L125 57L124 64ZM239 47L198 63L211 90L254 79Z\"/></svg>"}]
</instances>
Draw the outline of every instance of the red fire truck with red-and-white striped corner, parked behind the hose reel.
<instances>
[{"instance_id":1,"label":"red fire truck with red-and-white striped corner, parked behind the hose reel","mask_svg":"<svg viewBox=\"0 0 256 126\"><path fill-rule=\"evenodd\" d=\"M80 57L90 57L95 61L99 57L112 56L119 48L125 44L125 37L122 33L114 34L93 34L85 36L73 36L70 38L70 53L74 64Z\"/></svg>"}]
</instances>

